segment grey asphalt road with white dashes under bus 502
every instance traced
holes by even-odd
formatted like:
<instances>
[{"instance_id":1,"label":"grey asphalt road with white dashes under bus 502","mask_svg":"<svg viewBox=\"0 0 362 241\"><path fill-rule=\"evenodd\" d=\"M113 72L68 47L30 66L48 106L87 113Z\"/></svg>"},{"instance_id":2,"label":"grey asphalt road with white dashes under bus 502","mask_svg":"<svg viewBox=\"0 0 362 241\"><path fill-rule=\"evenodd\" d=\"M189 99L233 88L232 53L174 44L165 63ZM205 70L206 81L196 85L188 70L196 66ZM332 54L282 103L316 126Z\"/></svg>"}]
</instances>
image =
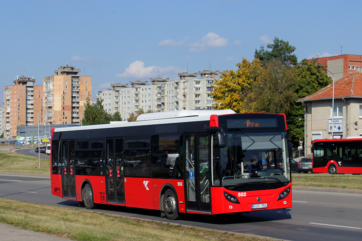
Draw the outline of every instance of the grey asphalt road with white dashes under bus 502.
<instances>
[{"instance_id":1,"label":"grey asphalt road with white dashes under bus 502","mask_svg":"<svg viewBox=\"0 0 362 241\"><path fill-rule=\"evenodd\" d=\"M50 177L43 176L0 173L0 198L81 208L78 202L51 195ZM361 198L362 194L294 190L290 209L243 215L186 215L183 220L172 223L283 240L359 241L362 236ZM100 206L94 211L169 222L160 217L159 211L153 210Z\"/></svg>"}]
</instances>

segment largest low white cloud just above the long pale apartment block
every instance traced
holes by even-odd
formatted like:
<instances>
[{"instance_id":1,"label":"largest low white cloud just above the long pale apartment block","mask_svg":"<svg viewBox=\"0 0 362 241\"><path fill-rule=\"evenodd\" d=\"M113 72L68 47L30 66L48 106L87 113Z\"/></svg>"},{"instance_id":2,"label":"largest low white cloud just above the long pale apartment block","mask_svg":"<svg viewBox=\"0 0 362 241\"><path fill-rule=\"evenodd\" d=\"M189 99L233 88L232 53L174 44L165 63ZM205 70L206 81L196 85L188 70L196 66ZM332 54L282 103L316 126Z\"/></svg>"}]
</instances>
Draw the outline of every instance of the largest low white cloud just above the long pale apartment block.
<instances>
[{"instance_id":1,"label":"largest low white cloud just above the long pale apartment block","mask_svg":"<svg viewBox=\"0 0 362 241\"><path fill-rule=\"evenodd\" d=\"M140 60L136 60L131 63L122 74L116 74L118 78L154 78L158 76L158 74L162 76L170 76L175 73L180 73L180 68L175 66L166 66L161 68L159 66L144 66L144 63Z\"/></svg>"}]
</instances>

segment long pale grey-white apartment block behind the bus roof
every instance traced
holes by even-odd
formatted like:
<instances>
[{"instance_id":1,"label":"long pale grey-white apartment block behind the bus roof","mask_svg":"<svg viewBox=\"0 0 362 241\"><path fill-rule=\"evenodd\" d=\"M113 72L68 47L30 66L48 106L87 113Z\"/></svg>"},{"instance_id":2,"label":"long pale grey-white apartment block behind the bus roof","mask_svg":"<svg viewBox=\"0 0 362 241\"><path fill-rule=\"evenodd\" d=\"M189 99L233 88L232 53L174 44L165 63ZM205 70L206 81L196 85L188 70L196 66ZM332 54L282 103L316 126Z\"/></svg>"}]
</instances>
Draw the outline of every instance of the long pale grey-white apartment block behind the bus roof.
<instances>
[{"instance_id":1,"label":"long pale grey-white apartment block behind the bus roof","mask_svg":"<svg viewBox=\"0 0 362 241\"><path fill-rule=\"evenodd\" d=\"M198 74L200 78L197 78ZM111 85L109 90L98 91L97 99L103 100L103 107L108 113L120 112L122 119L127 119L132 112L175 111L181 109L212 109L210 96L214 79L219 71L204 70L199 73L180 73L180 79L150 78L148 81L135 81L129 84Z\"/></svg>"}]
</instances>

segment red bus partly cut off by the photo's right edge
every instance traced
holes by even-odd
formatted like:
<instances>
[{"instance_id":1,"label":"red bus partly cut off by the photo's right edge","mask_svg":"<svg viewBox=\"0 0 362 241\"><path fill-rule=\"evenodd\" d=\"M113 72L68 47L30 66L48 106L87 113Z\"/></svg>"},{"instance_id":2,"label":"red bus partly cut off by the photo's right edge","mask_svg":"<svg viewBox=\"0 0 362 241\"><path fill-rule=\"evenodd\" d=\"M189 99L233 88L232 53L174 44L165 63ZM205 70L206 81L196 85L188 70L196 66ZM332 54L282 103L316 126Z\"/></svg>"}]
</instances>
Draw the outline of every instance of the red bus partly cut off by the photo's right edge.
<instances>
[{"instance_id":1,"label":"red bus partly cut off by the photo's right edge","mask_svg":"<svg viewBox=\"0 0 362 241\"><path fill-rule=\"evenodd\" d=\"M362 139L321 139L312 143L313 172L362 174Z\"/></svg>"}]
</instances>

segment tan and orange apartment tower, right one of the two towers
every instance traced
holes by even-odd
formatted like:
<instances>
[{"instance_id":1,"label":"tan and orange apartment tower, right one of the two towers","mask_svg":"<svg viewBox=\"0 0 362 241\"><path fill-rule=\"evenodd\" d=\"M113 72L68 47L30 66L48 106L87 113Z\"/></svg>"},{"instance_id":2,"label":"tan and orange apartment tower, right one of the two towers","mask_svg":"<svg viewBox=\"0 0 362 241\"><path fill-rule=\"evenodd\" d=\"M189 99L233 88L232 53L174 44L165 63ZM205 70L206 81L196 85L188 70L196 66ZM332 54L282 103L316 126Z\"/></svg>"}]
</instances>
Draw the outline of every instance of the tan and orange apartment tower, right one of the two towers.
<instances>
[{"instance_id":1,"label":"tan and orange apartment tower, right one of the two towers","mask_svg":"<svg viewBox=\"0 0 362 241\"><path fill-rule=\"evenodd\" d=\"M60 66L55 76L43 78L46 124L80 123L87 98L92 100L92 77L80 76L74 66Z\"/></svg>"}]
</instances>

